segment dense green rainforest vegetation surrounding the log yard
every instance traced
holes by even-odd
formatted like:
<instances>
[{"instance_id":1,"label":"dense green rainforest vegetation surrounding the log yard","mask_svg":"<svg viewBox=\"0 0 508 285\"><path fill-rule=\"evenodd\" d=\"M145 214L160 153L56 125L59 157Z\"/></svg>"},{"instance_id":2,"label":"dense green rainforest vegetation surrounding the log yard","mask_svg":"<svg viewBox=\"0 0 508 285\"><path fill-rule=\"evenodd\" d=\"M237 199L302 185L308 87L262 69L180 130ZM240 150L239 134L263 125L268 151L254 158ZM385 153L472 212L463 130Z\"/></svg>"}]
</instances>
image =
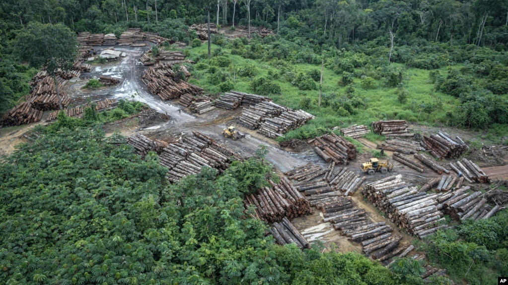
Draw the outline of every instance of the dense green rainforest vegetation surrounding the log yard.
<instances>
[{"instance_id":1,"label":"dense green rainforest vegetation surrounding the log yard","mask_svg":"<svg viewBox=\"0 0 508 285\"><path fill-rule=\"evenodd\" d=\"M208 20L274 34L214 34L207 52L188 26ZM508 143L503 0L4 0L0 114L29 93L38 72L17 50L18 35L34 22L117 37L141 28L184 42L196 62L190 80L205 90L268 95L317 116L285 139L377 118L483 129ZM61 114L0 159L0 282L423 283L422 264L411 258L385 268L353 253L322 253L319 243L304 251L276 245L242 203L273 172L262 152L224 173L204 168L169 184L156 155L141 159L125 137L101 129L101 121L141 108L122 106L112 119L91 109L83 120ZM508 275L506 215L438 232L420 248L456 282L492 283Z\"/></svg>"}]
</instances>

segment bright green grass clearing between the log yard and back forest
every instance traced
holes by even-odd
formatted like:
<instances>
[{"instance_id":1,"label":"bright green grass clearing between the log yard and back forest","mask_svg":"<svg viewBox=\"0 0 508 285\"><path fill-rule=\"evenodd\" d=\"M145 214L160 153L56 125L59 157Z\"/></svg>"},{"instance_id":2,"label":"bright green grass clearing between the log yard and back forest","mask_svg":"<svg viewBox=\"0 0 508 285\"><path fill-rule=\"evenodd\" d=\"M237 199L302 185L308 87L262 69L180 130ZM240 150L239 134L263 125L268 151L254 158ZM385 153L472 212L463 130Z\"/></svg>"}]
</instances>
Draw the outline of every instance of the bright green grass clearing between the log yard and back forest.
<instances>
[{"instance_id":1,"label":"bright green grass clearing between the log yard and back forest","mask_svg":"<svg viewBox=\"0 0 508 285\"><path fill-rule=\"evenodd\" d=\"M376 81L376 89L364 90L361 87L361 79L354 79L355 93L354 97L358 98L365 104L364 107L355 109L354 115L345 115L339 113L337 110L332 109L331 106L321 106L317 104L319 91L301 91L291 84L290 81L285 79L284 75L280 72L283 68L291 70L295 75L298 73L306 73L309 70L321 70L321 65L316 64L285 64L280 60L262 61L246 59L239 55L231 55L231 50L225 47L218 47L212 45L212 58L220 49L220 53L231 60L231 65L228 67L218 67L225 73L229 73L228 80L233 82L233 68L242 68L246 65L256 66L258 74L255 77L241 77L236 74L234 80L234 89L242 92L256 93L251 87L250 83L253 78L267 77L268 70L279 74L278 79L272 82L278 84L281 88L280 94L271 95L275 103L288 106L293 109L300 109L300 102L303 98L310 98L310 106L305 111L316 116L316 119L311 120L307 125L288 132L282 139L300 138L305 139L314 135L321 135L329 132L331 128L347 127L353 124L363 124L370 126L373 121L377 120L406 120L411 123L421 123L425 125L450 125L451 114L454 113L455 107L459 104L457 98L442 94L434 91L434 84L429 82L429 70L410 68L407 70L409 80L405 84L405 88L409 91L407 101L401 103L398 100L396 90L397 88L385 87L383 80ZM202 45L197 48L189 48L188 53L190 58L198 63L210 64L207 59L207 45ZM281 63L282 62L282 63ZM281 67L280 65L285 65ZM395 64L396 65L396 64ZM441 68L440 73L446 74L447 68ZM454 67L459 68L459 67ZM210 74L207 69L193 71L194 78L190 80L193 84L201 86L205 92L218 94L220 89L217 84L212 84L209 81ZM336 93L339 96L345 94L346 87L340 86L338 82L341 77L336 75L333 70L324 68L323 74L323 88L324 94ZM319 82L316 82L319 86ZM436 108L427 108L429 104L441 102ZM498 126L494 134L508 133L508 127ZM368 139L374 141L384 140L383 136L375 136L369 134L366 136ZM508 142L506 142L508 143Z\"/></svg>"}]
</instances>

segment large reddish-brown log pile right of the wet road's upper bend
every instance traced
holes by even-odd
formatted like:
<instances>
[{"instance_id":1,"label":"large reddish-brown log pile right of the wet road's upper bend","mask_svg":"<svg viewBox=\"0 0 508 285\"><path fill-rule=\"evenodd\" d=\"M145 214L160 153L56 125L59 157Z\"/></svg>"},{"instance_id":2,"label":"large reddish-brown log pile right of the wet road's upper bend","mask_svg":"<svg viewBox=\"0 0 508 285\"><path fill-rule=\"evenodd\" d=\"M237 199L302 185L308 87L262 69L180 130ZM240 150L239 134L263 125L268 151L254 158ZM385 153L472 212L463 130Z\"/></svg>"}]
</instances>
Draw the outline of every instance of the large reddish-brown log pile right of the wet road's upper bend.
<instances>
[{"instance_id":1,"label":"large reddish-brown log pile right of the wet road's upper bend","mask_svg":"<svg viewBox=\"0 0 508 285\"><path fill-rule=\"evenodd\" d=\"M150 92L163 100L176 99L183 94L198 95L203 88L175 78L171 64L159 62L146 70L141 78Z\"/></svg>"}]
</instances>

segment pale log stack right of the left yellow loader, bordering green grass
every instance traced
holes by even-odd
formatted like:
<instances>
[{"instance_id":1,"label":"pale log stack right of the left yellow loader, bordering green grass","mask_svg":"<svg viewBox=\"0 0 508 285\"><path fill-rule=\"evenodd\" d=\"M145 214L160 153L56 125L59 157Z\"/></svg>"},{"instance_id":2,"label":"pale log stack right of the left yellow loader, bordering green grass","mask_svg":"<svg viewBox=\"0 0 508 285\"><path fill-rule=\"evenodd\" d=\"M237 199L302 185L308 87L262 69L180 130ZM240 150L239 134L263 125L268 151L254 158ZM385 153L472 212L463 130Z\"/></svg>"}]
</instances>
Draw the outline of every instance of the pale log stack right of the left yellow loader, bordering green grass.
<instances>
[{"instance_id":1,"label":"pale log stack right of the left yellow loader, bordering green grass","mask_svg":"<svg viewBox=\"0 0 508 285\"><path fill-rule=\"evenodd\" d=\"M247 96L244 96L242 102L245 102L246 98ZM258 133L276 138L313 118L315 117L303 110L294 111L270 101L263 101L243 109L238 121L251 130L259 128Z\"/></svg>"}]
</instances>

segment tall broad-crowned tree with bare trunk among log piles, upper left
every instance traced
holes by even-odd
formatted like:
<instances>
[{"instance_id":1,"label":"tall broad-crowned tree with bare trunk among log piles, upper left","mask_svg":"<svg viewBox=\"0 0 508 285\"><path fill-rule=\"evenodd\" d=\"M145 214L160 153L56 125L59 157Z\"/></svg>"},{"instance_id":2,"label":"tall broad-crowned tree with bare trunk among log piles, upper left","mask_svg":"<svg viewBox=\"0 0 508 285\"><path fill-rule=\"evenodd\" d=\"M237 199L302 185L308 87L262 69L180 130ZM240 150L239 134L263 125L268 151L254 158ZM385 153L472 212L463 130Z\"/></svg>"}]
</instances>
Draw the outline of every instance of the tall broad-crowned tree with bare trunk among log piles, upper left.
<instances>
[{"instance_id":1,"label":"tall broad-crowned tree with bare trunk among log piles, upper left","mask_svg":"<svg viewBox=\"0 0 508 285\"><path fill-rule=\"evenodd\" d=\"M76 33L63 24L41 24L30 22L16 37L21 60L34 67L46 67L53 78L58 105L63 109L56 72L72 69L78 54Z\"/></svg>"}]
</instances>

